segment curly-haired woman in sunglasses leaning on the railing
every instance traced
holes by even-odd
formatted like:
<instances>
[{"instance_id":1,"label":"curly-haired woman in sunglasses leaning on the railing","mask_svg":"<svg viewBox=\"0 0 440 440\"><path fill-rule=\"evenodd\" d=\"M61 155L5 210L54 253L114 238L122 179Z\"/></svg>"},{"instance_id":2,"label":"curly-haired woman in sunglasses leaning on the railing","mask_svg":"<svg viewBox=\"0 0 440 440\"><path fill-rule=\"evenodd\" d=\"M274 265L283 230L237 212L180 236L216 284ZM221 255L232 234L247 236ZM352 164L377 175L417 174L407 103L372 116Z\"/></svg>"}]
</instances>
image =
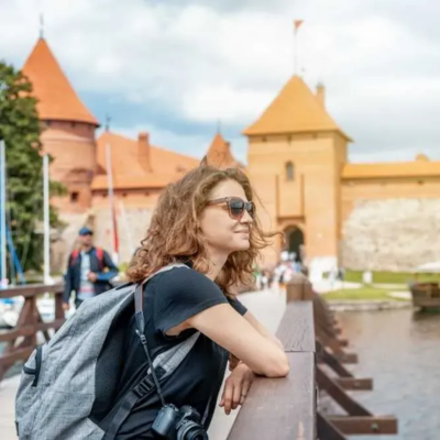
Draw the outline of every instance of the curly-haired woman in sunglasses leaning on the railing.
<instances>
[{"instance_id":1,"label":"curly-haired woman in sunglasses leaning on the railing","mask_svg":"<svg viewBox=\"0 0 440 440\"><path fill-rule=\"evenodd\" d=\"M228 415L244 402L254 374L284 377L289 371L279 341L232 295L235 285L250 282L257 253L268 244L252 199L242 172L202 164L164 190L142 248L128 270L129 279L140 283L173 262L187 265L146 283L145 336L154 358L200 332L178 370L162 384L162 392L176 407L190 405L205 415L206 429L229 353L232 372L220 402ZM148 367L133 329L131 322L120 396ZM158 397L154 403L141 399L117 438L157 438L152 425L161 407Z\"/></svg>"}]
</instances>

